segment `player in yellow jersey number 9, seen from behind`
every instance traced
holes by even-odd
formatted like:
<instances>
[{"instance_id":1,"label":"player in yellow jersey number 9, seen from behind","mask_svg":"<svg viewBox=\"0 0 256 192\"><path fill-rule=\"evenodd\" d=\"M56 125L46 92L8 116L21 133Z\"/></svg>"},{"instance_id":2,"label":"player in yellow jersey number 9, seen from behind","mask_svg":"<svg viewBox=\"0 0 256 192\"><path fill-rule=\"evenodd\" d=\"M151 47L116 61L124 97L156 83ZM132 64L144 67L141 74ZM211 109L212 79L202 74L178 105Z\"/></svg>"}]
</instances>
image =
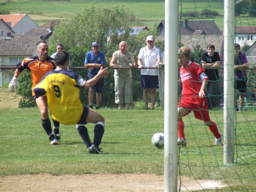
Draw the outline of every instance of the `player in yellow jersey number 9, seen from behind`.
<instances>
[{"instance_id":1,"label":"player in yellow jersey number 9, seen from behind","mask_svg":"<svg viewBox=\"0 0 256 192\"><path fill-rule=\"evenodd\" d=\"M69 55L58 52L55 56L56 70L48 72L34 88L35 96L47 97L47 105L52 119L65 125L76 124L76 128L87 146L89 153L100 154L102 136L104 134L104 118L86 106L80 100L80 87L90 88L102 77L108 76L108 69L103 67L98 74L88 81L73 71L67 71ZM94 140L90 142L87 123L95 123Z\"/></svg>"}]
</instances>

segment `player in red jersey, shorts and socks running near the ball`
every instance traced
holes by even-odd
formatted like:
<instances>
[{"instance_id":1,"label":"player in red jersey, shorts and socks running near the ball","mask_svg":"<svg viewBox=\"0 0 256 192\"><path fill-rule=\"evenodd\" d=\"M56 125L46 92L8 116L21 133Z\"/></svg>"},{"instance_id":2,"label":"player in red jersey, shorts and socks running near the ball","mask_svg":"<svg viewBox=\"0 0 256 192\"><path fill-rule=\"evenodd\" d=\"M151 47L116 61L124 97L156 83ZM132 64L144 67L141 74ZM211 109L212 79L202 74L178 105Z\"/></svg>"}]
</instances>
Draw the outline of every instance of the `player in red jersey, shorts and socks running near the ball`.
<instances>
[{"instance_id":1,"label":"player in red jersey, shorts and socks running near the ball","mask_svg":"<svg viewBox=\"0 0 256 192\"><path fill-rule=\"evenodd\" d=\"M191 49L181 47L179 50L180 81L182 83L182 97L178 103L178 145L186 146L184 123L182 117L194 112L195 118L203 120L215 137L215 145L221 145L221 134L215 122L209 117L205 88L208 77L204 69L197 63L189 61Z\"/></svg>"}]
</instances>

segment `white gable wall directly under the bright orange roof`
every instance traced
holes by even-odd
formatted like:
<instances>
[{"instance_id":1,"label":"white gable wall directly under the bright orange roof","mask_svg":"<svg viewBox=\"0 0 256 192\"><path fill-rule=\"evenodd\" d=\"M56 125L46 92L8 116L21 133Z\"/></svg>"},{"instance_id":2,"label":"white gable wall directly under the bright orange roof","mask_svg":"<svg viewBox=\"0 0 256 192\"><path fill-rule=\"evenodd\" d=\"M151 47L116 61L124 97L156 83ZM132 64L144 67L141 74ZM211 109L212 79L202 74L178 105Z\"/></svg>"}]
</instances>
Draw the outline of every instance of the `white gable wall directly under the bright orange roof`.
<instances>
[{"instance_id":1,"label":"white gable wall directly under the bright orange roof","mask_svg":"<svg viewBox=\"0 0 256 192\"><path fill-rule=\"evenodd\" d=\"M38 28L38 24L36 24L28 15L25 15L15 26L12 27L12 30L16 34L24 34L32 28Z\"/></svg>"}]
</instances>

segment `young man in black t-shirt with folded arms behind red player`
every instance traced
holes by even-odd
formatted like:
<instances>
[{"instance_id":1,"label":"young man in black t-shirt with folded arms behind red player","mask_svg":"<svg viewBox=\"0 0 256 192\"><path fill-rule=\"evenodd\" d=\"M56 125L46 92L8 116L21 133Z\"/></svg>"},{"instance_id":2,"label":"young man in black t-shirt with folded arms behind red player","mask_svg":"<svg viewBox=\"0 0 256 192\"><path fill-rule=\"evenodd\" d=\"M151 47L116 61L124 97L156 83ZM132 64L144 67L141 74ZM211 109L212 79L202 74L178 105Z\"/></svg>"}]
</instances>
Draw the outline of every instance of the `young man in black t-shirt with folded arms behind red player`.
<instances>
[{"instance_id":1,"label":"young man in black t-shirt with folded arms behind red player","mask_svg":"<svg viewBox=\"0 0 256 192\"><path fill-rule=\"evenodd\" d=\"M215 52L214 50L215 46L213 44L207 45L207 52L202 55L201 60L205 70L205 74L208 76L209 79L207 84L207 102L209 109L218 106L218 97L220 96L221 93L220 86L218 83L218 68L221 64L221 60L218 52Z\"/></svg>"}]
</instances>

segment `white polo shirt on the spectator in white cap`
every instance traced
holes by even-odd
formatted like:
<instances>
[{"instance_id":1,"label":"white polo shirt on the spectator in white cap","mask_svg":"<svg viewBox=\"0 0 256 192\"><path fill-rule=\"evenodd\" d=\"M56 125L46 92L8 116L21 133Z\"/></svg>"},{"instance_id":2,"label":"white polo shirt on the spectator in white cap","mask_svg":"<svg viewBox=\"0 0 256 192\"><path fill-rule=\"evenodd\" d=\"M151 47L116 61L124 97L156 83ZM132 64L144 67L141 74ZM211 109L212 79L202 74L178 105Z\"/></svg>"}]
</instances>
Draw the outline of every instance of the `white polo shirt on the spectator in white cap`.
<instances>
[{"instance_id":1,"label":"white polo shirt on the spectator in white cap","mask_svg":"<svg viewBox=\"0 0 256 192\"><path fill-rule=\"evenodd\" d=\"M158 47L153 46L153 49L149 50L146 46L140 49L138 58L142 59L143 67L153 67L157 63L157 59L162 58L162 53ZM158 76L157 69L142 69L140 74Z\"/></svg>"}]
</instances>

